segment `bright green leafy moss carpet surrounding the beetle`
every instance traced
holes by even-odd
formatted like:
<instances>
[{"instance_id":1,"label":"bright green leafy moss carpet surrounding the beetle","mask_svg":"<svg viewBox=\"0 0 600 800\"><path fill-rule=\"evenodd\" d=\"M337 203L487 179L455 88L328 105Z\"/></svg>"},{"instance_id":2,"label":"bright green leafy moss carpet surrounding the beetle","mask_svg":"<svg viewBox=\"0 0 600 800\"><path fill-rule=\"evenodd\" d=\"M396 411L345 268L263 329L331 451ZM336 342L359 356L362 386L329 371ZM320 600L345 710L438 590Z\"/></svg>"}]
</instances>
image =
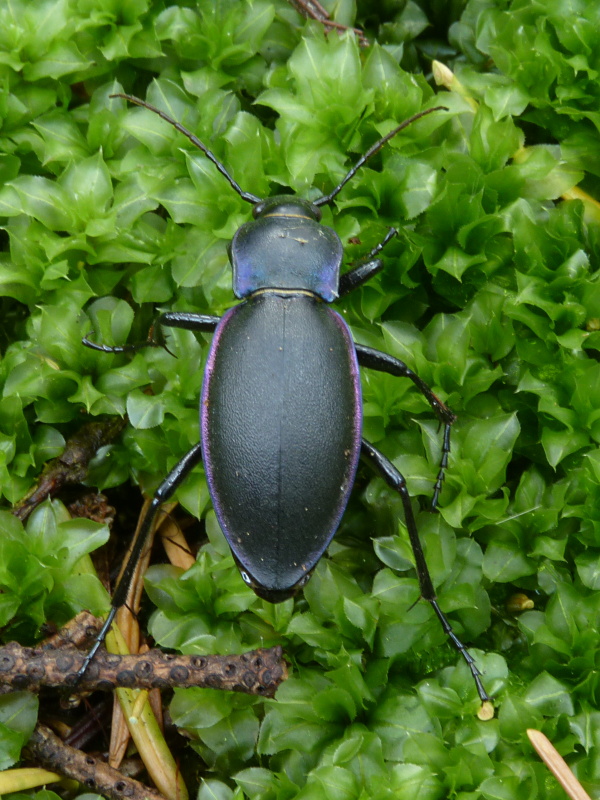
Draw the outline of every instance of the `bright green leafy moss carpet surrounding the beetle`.
<instances>
[{"instance_id":1,"label":"bright green leafy moss carpet surrounding the beetle","mask_svg":"<svg viewBox=\"0 0 600 800\"><path fill-rule=\"evenodd\" d=\"M440 604L475 649L496 719L476 719L468 669L413 606L399 500L366 469L327 558L281 606L242 583L198 470L179 499L209 541L185 578L150 571L150 632L184 652L281 643L292 663L276 701L176 692L200 798L558 799L532 726L594 794L596 4L380 5L359 4L373 42L362 50L283 0L0 8L0 486L7 507L23 496L82 413L129 415L94 466L101 488L155 487L198 438L207 337L167 331L177 358L92 352L81 338L143 340L157 308L222 314L234 302L226 245L249 208L184 137L110 94L147 97L261 196L330 191L394 123L446 106L360 170L324 221L346 263L400 230L384 271L341 307L357 341L405 360L458 414L438 515L419 510L440 457L423 398L365 370L365 431L406 474ZM434 89L432 56L460 86ZM576 185L585 193L565 199ZM77 592L79 605L106 602L89 576L74 593L72 559L52 561L68 527L56 513L30 522L35 535L6 518L5 640L64 621ZM82 552L102 538L60 530ZM517 591L535 604L519 617L505 606ZM8 766L23 736L0 727Z\"/></svg>"}]
</instances>

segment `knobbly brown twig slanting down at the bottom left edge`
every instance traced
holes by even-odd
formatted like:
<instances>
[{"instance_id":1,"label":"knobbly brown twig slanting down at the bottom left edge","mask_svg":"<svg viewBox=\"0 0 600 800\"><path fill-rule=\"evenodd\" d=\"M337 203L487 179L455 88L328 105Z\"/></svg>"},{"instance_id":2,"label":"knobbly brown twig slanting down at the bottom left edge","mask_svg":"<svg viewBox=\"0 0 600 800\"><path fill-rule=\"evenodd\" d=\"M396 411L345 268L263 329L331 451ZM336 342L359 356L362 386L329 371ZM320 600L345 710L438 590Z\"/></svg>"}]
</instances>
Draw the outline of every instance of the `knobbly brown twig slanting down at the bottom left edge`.
<instances>
[{"instance_id":1,"label":"knobbly brown twig slanting down at the bottom left edge","mask_svg":"<svg viewBox=\"0 0 600 800\"><path fill-rule=\"evenodd\" d=\"M36 726L27 744L27 752L31 759L52 772L74 778L88 789L113 800L164 800L157 791L65 744L45 725Z\"/></svg>"}]
</instances>

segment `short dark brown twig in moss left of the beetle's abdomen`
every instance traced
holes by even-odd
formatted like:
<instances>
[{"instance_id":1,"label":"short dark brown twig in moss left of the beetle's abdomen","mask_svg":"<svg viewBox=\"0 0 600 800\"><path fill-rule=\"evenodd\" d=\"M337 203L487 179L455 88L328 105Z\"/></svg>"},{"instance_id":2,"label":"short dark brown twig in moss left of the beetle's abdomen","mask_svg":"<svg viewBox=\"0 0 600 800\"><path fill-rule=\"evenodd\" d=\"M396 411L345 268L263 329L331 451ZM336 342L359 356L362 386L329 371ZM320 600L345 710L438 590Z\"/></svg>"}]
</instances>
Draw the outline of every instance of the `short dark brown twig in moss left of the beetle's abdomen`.
<instances>
[{"instance_id":1,"label":"short dark brown twig in moss left of the beetle's abdomen","mask_svg":"<svg viewBox=\"0 0 600 800\"><path fill-rule=\"evenodd\" d=\"M46 464L37 485L13 508L15 517L26 520L36 506L65 484L81 483L92 458L118 436L125 424L126 420L111 417L106 422L90 422L80 428L67 441L62 455Z\"/></svg>"}]
</instances>

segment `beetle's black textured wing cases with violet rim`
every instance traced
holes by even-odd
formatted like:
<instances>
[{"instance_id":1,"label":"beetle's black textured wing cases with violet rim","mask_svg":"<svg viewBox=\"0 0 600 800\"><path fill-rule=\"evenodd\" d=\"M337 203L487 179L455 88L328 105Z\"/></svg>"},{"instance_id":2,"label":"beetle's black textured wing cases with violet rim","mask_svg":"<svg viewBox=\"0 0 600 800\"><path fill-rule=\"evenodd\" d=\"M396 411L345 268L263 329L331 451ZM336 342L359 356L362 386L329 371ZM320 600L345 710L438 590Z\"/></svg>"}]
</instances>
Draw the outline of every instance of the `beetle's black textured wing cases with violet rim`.
<instances>
[{"instance_id":1,"label":"beetle's black textured wing cases with violet rim","mask_svg":"<svg viewBox=\"0 0 600 800\"><path fill-rule=\"evenodd\" d=\"M339 524L360 449L360 387L341 317L306 295L261 294L217 329L201 406L219 521L250 575L293 587Z\"/></svg>"}]
</instances>

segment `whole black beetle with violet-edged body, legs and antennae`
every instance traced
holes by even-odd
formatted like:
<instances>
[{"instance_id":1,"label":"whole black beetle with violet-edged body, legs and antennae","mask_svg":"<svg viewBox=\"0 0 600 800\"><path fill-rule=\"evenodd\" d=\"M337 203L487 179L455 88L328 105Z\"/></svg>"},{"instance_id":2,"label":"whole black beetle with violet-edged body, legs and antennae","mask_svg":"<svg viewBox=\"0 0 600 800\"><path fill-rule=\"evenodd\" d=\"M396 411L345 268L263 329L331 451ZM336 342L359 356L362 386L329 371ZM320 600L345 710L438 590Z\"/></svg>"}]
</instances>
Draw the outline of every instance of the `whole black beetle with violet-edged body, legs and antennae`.
<instances>
[{"instance_id":1,"label":"whole black beetle with violet-edged body, legs and antennae","mask_svg":"<svg viewBox=\"0 0 600 800\"><path fill-rule=\"evenodd\" d=\"M295 195L260 198L243 191L217 157L166 113L132 95L111 97L149 109L187 136L240 197L252 204L253 220L238 229L229 246L233 292L240 302L223 317L167 311L155 323L214 333L200 398L200 442L156 490L111 610L79 677L125 602L160 505L197 464L204 465L217 519L242 579L260 597L279 603L306 584L331 542L362 457L399 494L421 596L467 662L482 702L489 701L472 656L437 603L406 481L362 436L359 366L409 378L443 426L433 509L448 464L450 429L456 416L403 361L355 343L341 315L329 306L383 268L378 254L397 232L390 229L366 257L340 275L342 242L332 228L321 224L320 211L393 136L444 107L405 120L379 139L329 194L308 201ZM83 343L106 353L161 346L153 334L147 342L119 347L87 337Z\"/></svg>"}]
</instances>

